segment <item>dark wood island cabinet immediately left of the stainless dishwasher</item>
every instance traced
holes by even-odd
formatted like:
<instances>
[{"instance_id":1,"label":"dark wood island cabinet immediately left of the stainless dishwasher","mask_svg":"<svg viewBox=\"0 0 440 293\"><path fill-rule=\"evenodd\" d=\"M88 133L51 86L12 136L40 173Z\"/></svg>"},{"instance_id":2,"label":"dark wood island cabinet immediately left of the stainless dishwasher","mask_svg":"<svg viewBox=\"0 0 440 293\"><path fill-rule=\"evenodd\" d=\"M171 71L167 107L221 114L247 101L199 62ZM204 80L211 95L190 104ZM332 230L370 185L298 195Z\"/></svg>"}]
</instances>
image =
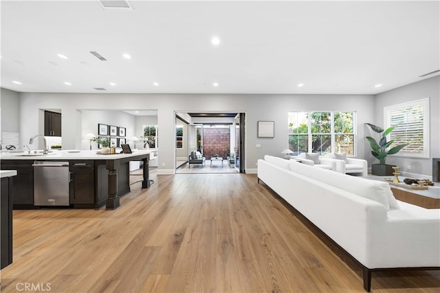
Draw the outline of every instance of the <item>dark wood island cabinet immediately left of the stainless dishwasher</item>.
<instances>
[{"instance_id":1,"label":"dark wood island cabinet immediately left of the stainless dishwasher","mask_svg":"<svg viewBox=\"0 0 440 293\"><path fill-rule=\"evenodd\" d=\"M2 170L17 170L12 188L14 210L36 208L34 206L34 167L32 160L1 160Z\"/></svg>"}]
</instances>

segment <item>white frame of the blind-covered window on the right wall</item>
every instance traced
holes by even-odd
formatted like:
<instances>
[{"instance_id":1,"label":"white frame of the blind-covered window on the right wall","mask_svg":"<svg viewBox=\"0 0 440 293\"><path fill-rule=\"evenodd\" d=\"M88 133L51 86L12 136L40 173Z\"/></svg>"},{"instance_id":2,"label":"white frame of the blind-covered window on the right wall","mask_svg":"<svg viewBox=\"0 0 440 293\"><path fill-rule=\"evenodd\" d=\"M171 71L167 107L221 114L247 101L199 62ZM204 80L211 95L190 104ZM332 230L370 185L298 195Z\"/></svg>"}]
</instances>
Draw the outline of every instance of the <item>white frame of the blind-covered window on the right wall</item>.
<instances>
[{"instance_id":1,"label":"white frame of the blind-covered window on the right wall","mask_svg":"<svg viewBox=\"0 0 440 293\"><path fill-rule=\"evenodd\" d=\"M384 107L384 129L391 127L391 111L415 107L421 105L423 107L423 152L412 153L406 152L405 148L401 149L399 153L391 156L406 157L406 158L430 158L430 98L421 98L419 100L412 100L409 102L402 102L396 105L389 105ZM391 135L388 134L386 139L389 141ZM393 144L394 145L394 144Z\"/></svg>"}]
</instances>

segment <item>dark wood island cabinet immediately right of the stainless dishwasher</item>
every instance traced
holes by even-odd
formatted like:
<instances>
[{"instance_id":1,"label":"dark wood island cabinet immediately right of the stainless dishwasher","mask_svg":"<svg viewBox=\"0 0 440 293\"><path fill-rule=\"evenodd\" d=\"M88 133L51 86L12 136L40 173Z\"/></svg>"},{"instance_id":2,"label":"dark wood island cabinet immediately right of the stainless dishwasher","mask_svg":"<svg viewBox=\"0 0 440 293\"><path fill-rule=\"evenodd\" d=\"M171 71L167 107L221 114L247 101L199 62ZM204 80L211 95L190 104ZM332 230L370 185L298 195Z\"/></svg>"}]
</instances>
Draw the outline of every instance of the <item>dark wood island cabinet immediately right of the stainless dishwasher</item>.
<instances>
[{"instance_id":1,"label":"dark wood island cabinet immediately right of the stainless dishwasher","mask_svg":"<svg viewBox=\"0 0 440 293\"><path fill-rule=\"evenodd\" d=\"M74 208L97 208L95 205L94 161L70 161L70 198Z\"/></svg>"}]
</instances>

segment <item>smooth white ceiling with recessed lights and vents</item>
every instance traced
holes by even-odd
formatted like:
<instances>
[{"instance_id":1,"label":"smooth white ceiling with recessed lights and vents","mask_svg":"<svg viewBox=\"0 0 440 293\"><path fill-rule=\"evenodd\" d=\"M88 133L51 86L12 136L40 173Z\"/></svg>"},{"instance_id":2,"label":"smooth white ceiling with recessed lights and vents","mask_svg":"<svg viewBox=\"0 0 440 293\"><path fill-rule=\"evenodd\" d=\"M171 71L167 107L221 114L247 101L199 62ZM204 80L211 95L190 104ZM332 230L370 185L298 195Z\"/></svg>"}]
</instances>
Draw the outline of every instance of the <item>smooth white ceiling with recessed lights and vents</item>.
<instances>
[{"instance_id":1,"label":"smooth white ceiling with recessed lights and vents","mask_svg":"<svg viewBox=\"0 0 440 293\"><path fill-rule=\"evenodd\" d=\"M129 2L133 10L104 10L97 0L2 0L1 87L377 94L440 67L439 1Z\"/></svg>"}]
</instances>

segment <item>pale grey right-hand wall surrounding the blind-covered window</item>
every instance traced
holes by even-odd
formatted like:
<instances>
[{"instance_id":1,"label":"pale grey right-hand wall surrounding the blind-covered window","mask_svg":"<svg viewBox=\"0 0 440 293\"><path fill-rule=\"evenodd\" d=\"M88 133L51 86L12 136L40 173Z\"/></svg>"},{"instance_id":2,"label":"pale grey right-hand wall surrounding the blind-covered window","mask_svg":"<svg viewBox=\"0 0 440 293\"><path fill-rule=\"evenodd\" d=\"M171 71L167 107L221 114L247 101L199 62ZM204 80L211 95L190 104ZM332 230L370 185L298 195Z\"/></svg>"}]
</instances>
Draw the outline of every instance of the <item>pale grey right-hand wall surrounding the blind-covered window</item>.
<instances>
[{"instance_id":1,"label":"pale grey right-hand wall surrounding the blind-covered window","mask_svg":"<svg viewBox=\"0 0 440 293\"><path fill-rule=\"evenodd\" d=\"M430 98L430 158L407 158L390 155L386 158L386 164L399 166L399 171L414 173L416 175L432 176L432 158L440 158L440 76L434 76L418 83L412 83L404 87L398 87L391 91L385 91L375 97L375 125L384 125L384 107L397 105L402 102L410 102L421 98ZM369 155L369 161L376 163L377 159ZM411 169L408 170L408 166Z\"/></svg>"}]
</instances>

